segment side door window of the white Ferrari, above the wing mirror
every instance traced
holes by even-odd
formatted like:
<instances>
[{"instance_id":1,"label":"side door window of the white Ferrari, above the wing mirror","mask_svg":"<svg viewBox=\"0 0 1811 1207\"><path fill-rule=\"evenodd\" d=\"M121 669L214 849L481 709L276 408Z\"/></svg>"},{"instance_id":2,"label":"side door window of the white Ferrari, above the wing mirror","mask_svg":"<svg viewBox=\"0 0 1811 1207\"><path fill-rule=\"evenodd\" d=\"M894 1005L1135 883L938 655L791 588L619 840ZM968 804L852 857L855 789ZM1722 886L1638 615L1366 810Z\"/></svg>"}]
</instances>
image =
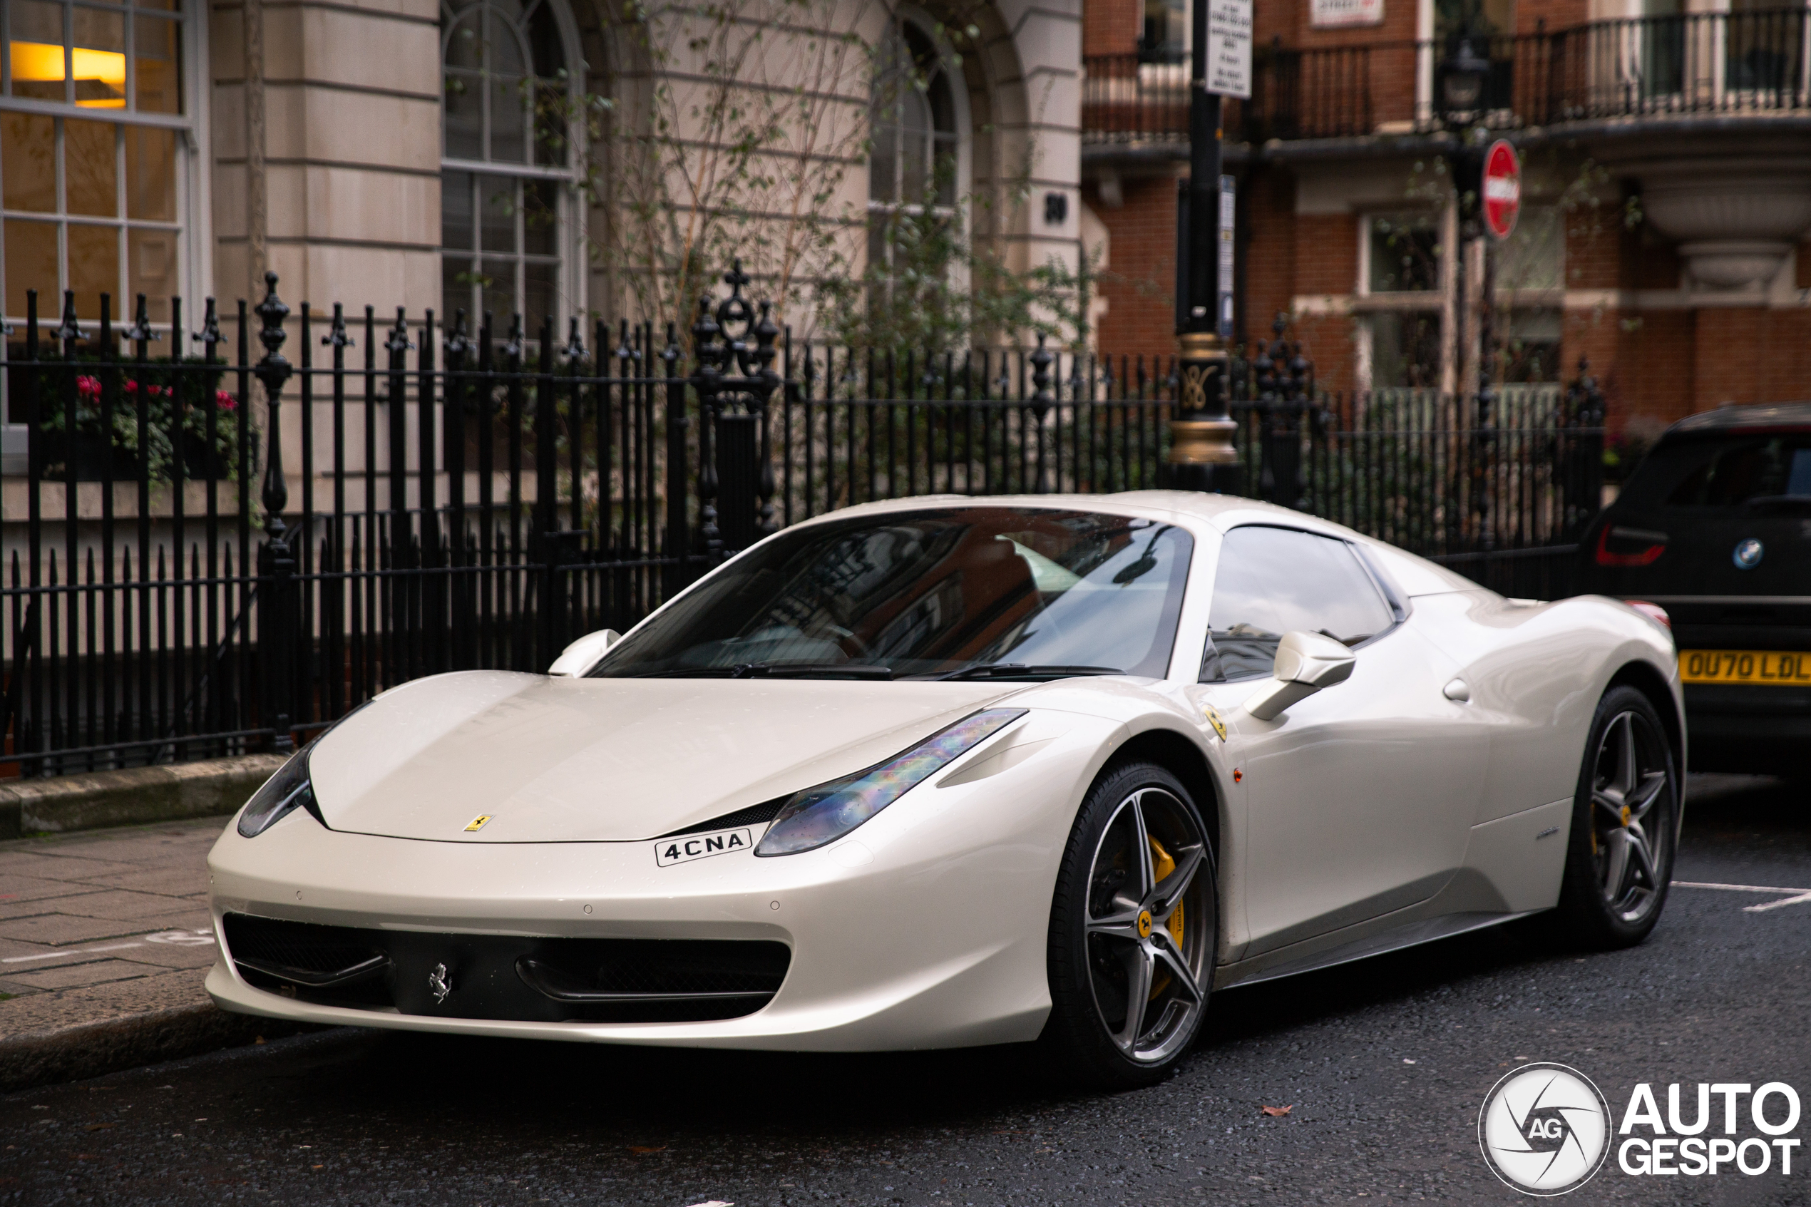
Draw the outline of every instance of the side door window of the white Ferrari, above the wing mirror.
<instances>
[{"instance_id":1,"label":"side door window of the white Ferrari, above the wing mirror","mask_svg":"<svg viewBox=\"0 0 1811 1207\"><path fill-rule=\"evenodd\" d=\"M1394 623L1376 583L1346 541L1298 528L1233 528L1213 574L1212 630L1201 682L1268 675L1291 630L1347 646Z\"/></svg>"}]
</instances>

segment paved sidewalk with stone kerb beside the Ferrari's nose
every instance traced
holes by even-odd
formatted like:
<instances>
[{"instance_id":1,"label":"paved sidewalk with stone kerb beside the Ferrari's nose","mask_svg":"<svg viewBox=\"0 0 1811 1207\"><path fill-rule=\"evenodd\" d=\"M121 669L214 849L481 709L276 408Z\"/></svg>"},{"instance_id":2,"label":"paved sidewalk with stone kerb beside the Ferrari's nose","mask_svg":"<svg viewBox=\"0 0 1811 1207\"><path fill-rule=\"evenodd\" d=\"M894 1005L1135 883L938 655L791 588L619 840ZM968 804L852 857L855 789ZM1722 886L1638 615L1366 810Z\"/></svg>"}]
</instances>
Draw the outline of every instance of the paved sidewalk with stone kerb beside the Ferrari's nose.
<instances>
[{"instance_id":1,"label":"paved sidewalk with stone kerb beside the Ferrari's nose","mask_svg":"<svg viewBox=\"0 0 1811 1207\"><path fill-rule=\"evenodd\" d=\"M0 1089L270 1030L201 988L216 950L206 856L228 823L0 843Z\"/></svg>"}]
</instances>

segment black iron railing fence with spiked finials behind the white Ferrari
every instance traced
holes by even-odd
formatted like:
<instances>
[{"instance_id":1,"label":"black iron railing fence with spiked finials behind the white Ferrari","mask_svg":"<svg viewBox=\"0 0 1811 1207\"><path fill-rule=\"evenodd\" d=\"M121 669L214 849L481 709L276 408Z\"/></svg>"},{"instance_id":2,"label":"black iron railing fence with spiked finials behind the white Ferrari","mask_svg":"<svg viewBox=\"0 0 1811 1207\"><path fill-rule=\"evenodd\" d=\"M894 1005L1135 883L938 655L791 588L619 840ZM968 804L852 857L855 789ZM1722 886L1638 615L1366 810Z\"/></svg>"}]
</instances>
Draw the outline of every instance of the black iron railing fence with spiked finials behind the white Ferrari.
<instances>
[{"instance_id":1,"label":"black iron railing fence with spiked finials behind the white Ferrari","mask_svg":"<svg viewBox=\"0 0 1811 1207\"><path fill-rule=\"evenodd\" d=\"M143 299L123 328L105 297L83 324L65 295L54 328L33 299L5 366L29 456L0 516L0 764L286 749L420 675L543 670L813 514L1166 481L1174 364L793 346L728 282L690 353L623 322L290 313L275 279L230 337L172 302L161 347ZM1519 566L1568 565L1595 510L1588 407L1309 402L1302 366L1260 349L1237 378L1250 492L1559 594Z\"/></svg>"}]
</instances>

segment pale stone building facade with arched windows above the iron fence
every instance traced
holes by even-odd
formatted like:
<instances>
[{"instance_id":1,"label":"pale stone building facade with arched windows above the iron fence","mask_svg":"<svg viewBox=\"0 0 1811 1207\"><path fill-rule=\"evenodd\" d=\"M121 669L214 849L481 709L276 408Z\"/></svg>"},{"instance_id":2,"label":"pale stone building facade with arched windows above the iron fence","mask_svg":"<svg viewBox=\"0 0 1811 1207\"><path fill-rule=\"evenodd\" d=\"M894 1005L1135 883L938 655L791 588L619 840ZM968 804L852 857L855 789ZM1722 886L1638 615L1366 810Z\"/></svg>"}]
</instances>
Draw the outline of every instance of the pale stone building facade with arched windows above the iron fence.
<instances>
[{"instance_id":1,"label":"pale stone building facade with arched windows above the iron fence","mask_svg":"<svg viewBox=\"0 0 1811 1207\"><path fill-rule=\"evenodd\" d=\"M784 4L732 9L746 22ZM619 217L612 206L625 204L614 147L697 141L683 100L674 128L636 123L652 119L654 90L708 74L688 58L686 31L650 29L628 11L607 0L0 2L9 347L27 290L53 324L72 290L89 326L101 293L116 318L130 308L123 299L145 293L152 326L167 328L168 297L187 299L185 326L201 297L230 315L235 299L255 300L266 268L292 308L306 300L317 313L369 304L418 322L429 308L464 308L503 324L520 311L529 331L543 315L563 328L623 313L628 290L598 252ZM889 110L896 154L886 163L849 154L860 138L842 143L837 192L817 203L848 215L851 270L866 255L860 224L893 204L877 199L945 152L960 166L951 206L967 206L962 221L996 239L1009 264L1076 262L1079 0L831 0L811 11L829 13L862 52L828 85L790 76L784 54L750 62L750 89L829 87L837 119L858 118L875 105L873 52L884 58L889 40L945 78L936 112L922 98ZM679 54L652 54L659 43ZM558 145L543 138L549 114L567 136ZM587 147L587 128L612 148ZM913 163L918 177L900 181ZM987 203L1003 192L1018 201ZM7 438L14 469L18 429Z\"/></svg>"}]
</instances>

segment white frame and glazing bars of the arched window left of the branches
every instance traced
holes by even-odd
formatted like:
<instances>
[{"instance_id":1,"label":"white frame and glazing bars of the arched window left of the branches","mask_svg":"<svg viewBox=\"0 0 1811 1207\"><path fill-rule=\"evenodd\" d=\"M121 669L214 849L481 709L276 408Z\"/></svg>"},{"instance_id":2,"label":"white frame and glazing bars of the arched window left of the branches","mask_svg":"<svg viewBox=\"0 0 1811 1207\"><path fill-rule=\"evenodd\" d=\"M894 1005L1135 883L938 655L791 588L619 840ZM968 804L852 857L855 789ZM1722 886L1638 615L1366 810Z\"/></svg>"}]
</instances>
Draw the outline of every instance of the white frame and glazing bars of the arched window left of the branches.
<instances>
[{"instance_id":1,"label":"white frame and glazing bars of the arched window left of the branches","mask_svg":"<svg viewBox=\"0 0 1811 1207\"><path fill-rule=\"evenodd\" d=\"M580 94L581 94L581 80L587 74L587 65L585 65L583 52L581 52L581 45L583 43L581 43L581 38L580 38L578 24L572 18L572 11L565 4L565 0L538 0L538 4L541 4L541 5L547 7L547 13L552 16L554 27L558 29L560 49L561 49L561 54L565 58L563 71L567 72L567 80L565 80L567 101L572 103L572 101L576 101L580 98ZM485 275L484 273L485 261L487 259L496 259L496 261L507 259L511 262L511 271L514 273L514 280L511 284L511 295L513 295L514 306L516 306L514 313L523 315L523 328L525 328L523 335L527 335L532 340L532 338L538 338L538 331L534 329L534 324L529 318L529 308L527 308L527 284L529 284L529 273L527 273L527 270L529 270L531 264L547 264L547 262L551 262L554 266L554 286L552 286L554 297L552 297L551 313L554 317L556 328L558 328L558 324L560 324L560 320L563 317L583 315L585 313L585 304L587 304L587 299L585 299L587 273L583 271L583 255L581 255L581 242L583 242L583 206L580 203L580 190L578 190L578 181L580 181L580 176L581 176L580 163L583 161L583 154L585 154L585 128L583 128L583 121L569 123L569 127L567 127L567 163L563 166L561 165L540 165L540 163L534 163L532 119L531 119L531 125L529 125L529 134L527 134L527 143L525 143L527 159L522 161L522 163L511 163L507 159L493 159L493 157L489 157L491 156L491 132L494 128L493 127L493 119L491 119L491 89L484 89L484 92L482 92L482 105L484 105L484 109L482 109L482 118L480 118L480 145L484 148L484 157L471 159L471 157L462 157L462 156L449 156L447 154L447 103L446 103L447 90L446 90L446 83L447 83L447 72L449 72L451 63L447 62L447 51L449 51L449 47L453 43L453 36L455 36L458 25L473 11L482 11L485 16L489 16L491 13L494 13L502 20L507 20L514 27L516 34L522 38L522 43L523 43L523 62L527 65L525 78L538 80L540 76L534 74L532 47L529 47L529 40L525 36L525 18L520 20L520 22L514 20L514 18L511 18L502 9L502 5L496 5L493 0L440 0L438 7L440 7L440 25L438 25L438 38L440 38L440 188L442 190L447 188L447 185L449 185L447 177L453 172L464 172L469 177L467 185L471 188L471 232L469 232L471 244L467 248L455 248L455 246L451 246L447 242L446 195L442 195L442 203L440 203L442 230L440 230L440 244L436 248L436 253L440 257L440 291L438 291L438 299L444 304L446 299L447 299L447 293L451 290L455 290L455 288L460 288L456 282L453 282L453 280L447 279L449 264L455 262L455 261L460 261L460 259L464 259L465 262L473 264L474 270L476 270L474 271L474 279L473 279L471 284L464 286L465 288L465 299L464 299L464 306L460 306L460 309L464 309L465 315L467 315L467 326L469 328L476 328L484 320L484 313L485 313L485 302L484 302L485 286L482 282L482 279ZM482 27L482 24L480 24L480 27ZM465 69L460 69L460 71L465 71ZM480 67L480 74L482 76L489 76L489 67ZM514 250L511 250L511 252L485 252L484 250L484 206L485 206L485 199L487 197L485 197L485 185L484 185L482 177L507 177L511 181L511 188L513 188L513 199L511 199L513 215L511 217L513 217L513 228L514 228L513 230ZM556 194L554 194L554 237L552 237L552 248L554 248L554 252L552 252L552 255L541 255L541 253L534 253L534 252L527 250L527 223L525 223L525 208L522 204L522 197L523 197L523 188L531 181L551 181L554 185L554 188L556 188ZM455 315L453 315L451 308L449 308L449 313L442 315L442 318L446 322L449 322L449 324L453 322ZM496 315L496 320L507 322L509 317L507 315Z\"/></svg>"}]
</instances>

